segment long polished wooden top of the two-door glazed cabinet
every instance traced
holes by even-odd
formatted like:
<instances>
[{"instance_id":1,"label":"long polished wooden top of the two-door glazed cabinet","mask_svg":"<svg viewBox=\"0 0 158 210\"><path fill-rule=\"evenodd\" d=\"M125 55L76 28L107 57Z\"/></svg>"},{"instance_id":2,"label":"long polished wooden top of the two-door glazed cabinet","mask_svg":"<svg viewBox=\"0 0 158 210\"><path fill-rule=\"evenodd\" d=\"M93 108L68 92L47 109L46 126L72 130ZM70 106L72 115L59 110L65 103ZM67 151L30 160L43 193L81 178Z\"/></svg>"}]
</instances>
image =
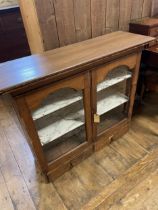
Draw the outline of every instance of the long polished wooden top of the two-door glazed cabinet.
<instances>
[{"instance_id":1,"label":"long polished wooden top of the two-door glazed cabinet","mask_svg":"<svg viewBox=\"0 0 158 210\"><path fill-rule=\"evenodd\" d=\"M144 46L155 39L114 32L80 43L0 64L0 94L55 78L120 52ZM76 71L75 71L76 70Z\"/></svg>"}]
</instances>

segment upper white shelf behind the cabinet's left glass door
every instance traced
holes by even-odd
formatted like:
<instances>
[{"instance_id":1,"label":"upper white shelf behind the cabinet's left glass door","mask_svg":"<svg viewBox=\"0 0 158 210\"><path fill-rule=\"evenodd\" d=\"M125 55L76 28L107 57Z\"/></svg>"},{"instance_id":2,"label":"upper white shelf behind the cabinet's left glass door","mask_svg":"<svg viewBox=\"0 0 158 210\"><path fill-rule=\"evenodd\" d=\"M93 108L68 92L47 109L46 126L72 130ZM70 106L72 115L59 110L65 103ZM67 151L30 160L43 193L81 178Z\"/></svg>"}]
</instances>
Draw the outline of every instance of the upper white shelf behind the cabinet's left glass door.
<instances>
[{"instance_id":1,"label":"upper white shelf behind the cabinet's left glass door","mask_svg":"<svg viewBox=\"0 0 158 210\"><path fill-rule=\"evenodd\" d=\"M61 89L51 94L42 105L32 113L33 120L40 119L50 113L69 106L82 99L82 93L73 89Z\"/></svg>"}]
</instances>

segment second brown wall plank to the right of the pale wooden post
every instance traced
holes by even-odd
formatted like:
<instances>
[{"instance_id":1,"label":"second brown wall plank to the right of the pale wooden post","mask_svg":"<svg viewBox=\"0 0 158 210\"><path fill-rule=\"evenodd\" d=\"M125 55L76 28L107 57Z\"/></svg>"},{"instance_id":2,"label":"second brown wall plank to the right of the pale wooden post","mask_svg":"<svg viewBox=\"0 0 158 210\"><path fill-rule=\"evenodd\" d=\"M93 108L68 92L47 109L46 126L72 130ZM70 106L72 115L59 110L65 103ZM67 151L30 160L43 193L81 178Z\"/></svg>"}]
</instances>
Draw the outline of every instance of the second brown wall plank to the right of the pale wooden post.
<instances>
[{"instance_id":1,"label":"second brown wall plank to the right of the pale wooden post","mask_svg":"<svg viewBox=\"0 0 158 210\"><path fill-rule=\"evenodd\" d=\"M60 46L76 42L73 0L54 0L54 7Z\"/></svg>"}]
</instances>

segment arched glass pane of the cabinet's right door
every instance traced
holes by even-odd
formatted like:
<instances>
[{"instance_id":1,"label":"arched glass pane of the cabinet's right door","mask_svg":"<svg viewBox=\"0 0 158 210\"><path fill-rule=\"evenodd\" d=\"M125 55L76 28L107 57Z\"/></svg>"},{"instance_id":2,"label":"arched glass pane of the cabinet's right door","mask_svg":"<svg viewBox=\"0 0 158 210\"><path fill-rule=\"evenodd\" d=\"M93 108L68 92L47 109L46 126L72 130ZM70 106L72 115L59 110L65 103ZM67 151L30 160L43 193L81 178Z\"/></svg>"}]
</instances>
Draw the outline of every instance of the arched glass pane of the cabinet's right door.
<instances>
[{"instance_id":1,"label":"arched glass pane of the cabinet's right door","mask_svg":"<svg viewBox=\"0 0 158 210\"><path fill-rule=\"evenodd\" d=\"M125 105L129 101L130 80L129 69L118 67L109 72L105 80L97 85L97 114L100 116L98 134L127 117Z\"/></svg>"}]
</instances>

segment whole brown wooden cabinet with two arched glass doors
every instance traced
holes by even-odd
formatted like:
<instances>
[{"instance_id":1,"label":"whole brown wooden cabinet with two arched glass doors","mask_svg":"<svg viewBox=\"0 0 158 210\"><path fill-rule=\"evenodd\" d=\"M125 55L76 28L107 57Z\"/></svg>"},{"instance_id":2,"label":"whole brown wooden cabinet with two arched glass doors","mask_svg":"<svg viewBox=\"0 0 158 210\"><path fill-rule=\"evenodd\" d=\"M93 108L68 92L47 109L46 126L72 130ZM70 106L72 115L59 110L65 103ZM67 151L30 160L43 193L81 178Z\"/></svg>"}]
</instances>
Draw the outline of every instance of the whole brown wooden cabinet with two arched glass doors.
<instances>
[{"instance_id":1,"label":"whole brown wooden cabinet with two arched glass doors","mask_svg":"<svg viewBox=\"0 0 158 210\"><path fill-rule=\"evenodd\" d=\"M55 179L128 131L141 51L155 39L114 32L0 66L43 172Z\"/></svg>"}]
</instances>

